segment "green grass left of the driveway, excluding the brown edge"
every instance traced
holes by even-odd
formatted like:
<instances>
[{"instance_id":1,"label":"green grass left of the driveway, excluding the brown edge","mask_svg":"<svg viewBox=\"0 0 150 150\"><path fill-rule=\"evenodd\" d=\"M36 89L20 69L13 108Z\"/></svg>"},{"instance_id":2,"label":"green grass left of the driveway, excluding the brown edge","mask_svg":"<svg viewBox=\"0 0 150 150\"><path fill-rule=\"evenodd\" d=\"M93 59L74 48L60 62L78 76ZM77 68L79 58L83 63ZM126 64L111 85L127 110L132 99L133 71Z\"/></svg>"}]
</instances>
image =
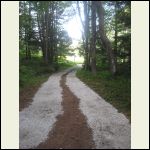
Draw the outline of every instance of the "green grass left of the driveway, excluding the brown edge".
<instances>
[{"instance_id":1,"label":"green grass left of the driveway, excluding the brown edge","mask_svg":"<svg viewBox=\"0 0 150 150\"><path fill-rule=\"evenodd\" d=\"M45 64L41 57L32 57L27 61L20 56L19 64L19 91L31 86L41 85L48 77L56 72L74 66L70 61L59 60L58 64Z\"/></svg>"}]
</instances>

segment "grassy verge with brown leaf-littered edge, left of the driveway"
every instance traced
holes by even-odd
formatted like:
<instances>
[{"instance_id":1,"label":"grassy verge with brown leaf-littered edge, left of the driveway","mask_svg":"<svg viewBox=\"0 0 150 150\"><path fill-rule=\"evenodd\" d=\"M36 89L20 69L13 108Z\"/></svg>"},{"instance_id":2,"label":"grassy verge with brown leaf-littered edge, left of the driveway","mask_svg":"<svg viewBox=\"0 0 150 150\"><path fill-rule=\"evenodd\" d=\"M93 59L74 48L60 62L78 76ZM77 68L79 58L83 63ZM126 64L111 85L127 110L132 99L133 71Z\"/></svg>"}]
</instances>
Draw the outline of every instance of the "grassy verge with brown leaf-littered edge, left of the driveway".
<instances>
[{"instance_id":1,"label":"grassy verge with brown leaf-littered edge, left of the driveway","mask_svg":"<svg viewBox=\"0 0 150 150\"><path fill-rule=\"evenodd\" d=\"M56 65L45 64L41 57L32 57L30 61L20 58L19 63L19 110L32 102L32 97L48 77L63 69L74 66L69 61L59 61Z\"/></svg>"}]
</instances>

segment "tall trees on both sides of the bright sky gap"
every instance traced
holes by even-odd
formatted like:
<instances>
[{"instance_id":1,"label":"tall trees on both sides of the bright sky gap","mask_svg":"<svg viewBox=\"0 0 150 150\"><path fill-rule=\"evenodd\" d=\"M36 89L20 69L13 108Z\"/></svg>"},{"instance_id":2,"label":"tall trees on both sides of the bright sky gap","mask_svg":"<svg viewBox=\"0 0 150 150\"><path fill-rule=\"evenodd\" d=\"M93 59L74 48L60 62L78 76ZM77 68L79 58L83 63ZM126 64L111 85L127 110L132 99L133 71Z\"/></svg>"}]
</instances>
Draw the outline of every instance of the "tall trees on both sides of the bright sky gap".
<instances>
[{"instance_id":1,"label":"tall trees on both sides of the bright sky gap","mask_svg":"<svg viewBox=\"0 0 150 150\"><path fill-rule=\"evenodd\" d=\"M63 22L65 16L74 16L74 11L65 12L72 5L76 5L75 13L79 14L83 28L80 53L85 58L84 69L96 74L106 65L115 74L120 64L129 67L130 1L20 1L19 42L26 59L41 50L45 63L57 64L58 57L69 53L72 39L63 29Z\"/></svg>"}]
</instances>

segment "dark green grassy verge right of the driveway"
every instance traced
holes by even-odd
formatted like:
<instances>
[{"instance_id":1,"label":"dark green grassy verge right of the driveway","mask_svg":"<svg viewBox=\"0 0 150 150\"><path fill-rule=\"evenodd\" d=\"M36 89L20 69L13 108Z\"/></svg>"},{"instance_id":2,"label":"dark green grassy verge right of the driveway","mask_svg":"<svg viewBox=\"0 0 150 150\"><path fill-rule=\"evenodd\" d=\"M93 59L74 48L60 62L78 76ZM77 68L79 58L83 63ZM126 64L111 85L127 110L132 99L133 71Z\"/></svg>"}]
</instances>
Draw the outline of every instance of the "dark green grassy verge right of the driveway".
<instances>
[{"instance_id":1,"label":"dark green grassy verge right of the driveway","mask_svg":"<svg viewBox=\"0 0 150 150\"><path fill-rule=\"evenodd\" d=\"M78 70L77 77L122 112L131 121L131 80L124 75L111 76L108 71Z\"/></svg>"}]
</instances>

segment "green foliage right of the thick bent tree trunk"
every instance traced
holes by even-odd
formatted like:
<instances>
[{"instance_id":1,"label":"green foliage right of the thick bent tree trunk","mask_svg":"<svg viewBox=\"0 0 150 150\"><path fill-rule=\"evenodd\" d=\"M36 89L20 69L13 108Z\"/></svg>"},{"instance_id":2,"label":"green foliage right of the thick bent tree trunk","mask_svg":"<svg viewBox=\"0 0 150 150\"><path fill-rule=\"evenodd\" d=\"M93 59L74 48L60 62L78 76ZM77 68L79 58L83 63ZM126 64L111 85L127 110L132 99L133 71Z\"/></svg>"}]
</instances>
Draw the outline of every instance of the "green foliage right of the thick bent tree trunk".
<instances>
[{"instance_id":1,"label":"green foliage right of the thick bent tree trunk","mask_svg":"<svg viewBox=\"0 0 150 150\"><path fill-rule=\"evenodd\" d=\"M105 28L112 40L117 63L130 62L131 1L106 1L104 4Z\"/></svg>"}]
</instances>

